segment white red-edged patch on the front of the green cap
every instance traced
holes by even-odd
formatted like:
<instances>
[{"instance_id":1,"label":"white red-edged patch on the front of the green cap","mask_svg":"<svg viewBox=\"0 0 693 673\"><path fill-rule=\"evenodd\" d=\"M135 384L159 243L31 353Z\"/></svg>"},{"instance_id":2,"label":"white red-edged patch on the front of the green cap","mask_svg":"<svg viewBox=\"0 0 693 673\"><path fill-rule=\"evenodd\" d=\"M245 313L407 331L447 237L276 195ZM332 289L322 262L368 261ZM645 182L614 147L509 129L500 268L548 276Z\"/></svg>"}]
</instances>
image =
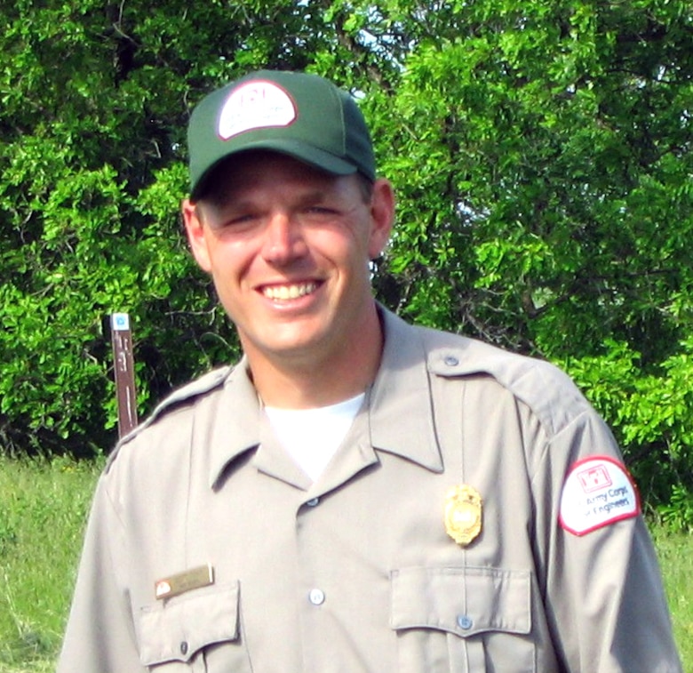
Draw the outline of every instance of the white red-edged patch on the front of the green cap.
<instances>
[{"instance_id":1,"label":"white red-edged patch on the front of the green cap","mask_svg":"<svg viewBox=\"0 0 693 673\"><path fill-rule=\"evenodd\" d=\"M234 89L219 113L219 138L268 126L288 126L296 119L291 96L271 82L254 81Z\"/></svg>"}]
</instances>

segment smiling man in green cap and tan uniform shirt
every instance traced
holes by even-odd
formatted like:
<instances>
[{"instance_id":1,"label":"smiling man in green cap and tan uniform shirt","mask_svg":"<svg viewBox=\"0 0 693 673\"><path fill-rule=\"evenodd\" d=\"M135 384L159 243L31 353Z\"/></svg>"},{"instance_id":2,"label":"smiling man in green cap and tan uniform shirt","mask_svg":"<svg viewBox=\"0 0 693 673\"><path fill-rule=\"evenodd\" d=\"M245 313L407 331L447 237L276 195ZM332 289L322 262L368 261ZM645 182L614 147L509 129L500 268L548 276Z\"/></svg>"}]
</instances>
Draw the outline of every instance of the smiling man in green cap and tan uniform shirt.
<instances>
[{"instance_id":1,"label":"smiling man in green cap and tan uniform shirt","mask_svg":"<svg viewBox=\"0 0 693 673\"><path fill-rule=\"evenodd\" d=\"M254 73L188 139L187 236L244 357L117 447L60 672L680 671L577 389L373 300L394 196L354 101Z\"/></svg>"}]
</instances>

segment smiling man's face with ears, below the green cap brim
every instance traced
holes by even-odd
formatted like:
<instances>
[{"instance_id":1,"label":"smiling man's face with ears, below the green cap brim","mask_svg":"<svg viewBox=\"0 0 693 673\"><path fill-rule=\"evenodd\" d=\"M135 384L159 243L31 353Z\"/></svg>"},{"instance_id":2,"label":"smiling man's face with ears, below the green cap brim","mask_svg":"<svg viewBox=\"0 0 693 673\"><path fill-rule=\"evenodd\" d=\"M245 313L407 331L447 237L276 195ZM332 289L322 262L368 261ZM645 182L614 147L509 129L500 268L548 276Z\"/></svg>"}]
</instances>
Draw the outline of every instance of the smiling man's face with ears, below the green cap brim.
<instances>
[{"instance_id":1,"label":"smiling man's face with ears, below the green cap brim","mask_svg":"<svg viewBox=\"0 0 693 673\"><path fill-rule=\"evenodd\" d=\"M389 236L386 180L359 179L254 152L221 169L209 197L185 202L195 259L251 358L326 363L358 346L371 319L369 260Z\"/></svg>"}]
</instances>

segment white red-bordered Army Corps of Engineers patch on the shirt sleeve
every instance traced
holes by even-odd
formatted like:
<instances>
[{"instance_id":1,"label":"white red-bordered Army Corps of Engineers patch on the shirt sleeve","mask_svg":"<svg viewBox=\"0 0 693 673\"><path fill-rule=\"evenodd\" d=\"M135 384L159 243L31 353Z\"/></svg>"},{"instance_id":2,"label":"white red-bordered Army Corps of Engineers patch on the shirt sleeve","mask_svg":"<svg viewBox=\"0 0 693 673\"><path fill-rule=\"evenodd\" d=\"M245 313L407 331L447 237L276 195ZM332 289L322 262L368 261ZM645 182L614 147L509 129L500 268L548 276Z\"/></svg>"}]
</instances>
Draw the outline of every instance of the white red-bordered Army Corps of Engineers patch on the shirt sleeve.
<instances>
[{"instance_id":1,"label":"white red-bordered Army Corps of Engineers patch on the shirt sleeve","mask_svg":"<svg viewBox=\"0 0 693 673\"><path fill-rule=\"evenodd\" d=\"M566 531L585 535L638 514L640 499L624 465L609 456L593 456L570 468L559 516Z\"/></svg>"}]
</instances>

